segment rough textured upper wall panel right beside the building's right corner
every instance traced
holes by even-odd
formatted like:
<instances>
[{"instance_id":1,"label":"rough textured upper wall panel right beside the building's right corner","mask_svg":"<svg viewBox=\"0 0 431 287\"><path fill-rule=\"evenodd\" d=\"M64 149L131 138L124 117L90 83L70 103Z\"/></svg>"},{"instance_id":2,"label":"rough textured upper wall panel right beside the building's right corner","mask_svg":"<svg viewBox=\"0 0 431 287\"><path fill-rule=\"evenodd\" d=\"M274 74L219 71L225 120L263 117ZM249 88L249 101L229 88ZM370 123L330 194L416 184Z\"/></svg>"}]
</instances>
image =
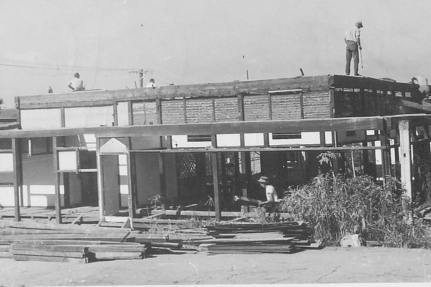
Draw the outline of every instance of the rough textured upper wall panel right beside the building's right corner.
<instances>
[{"instance_id":1,"label":"rough textured upper wall panel right beside the building's right corner","mask_svg":"<svg viewBox=\"0 0 431 287\"><path fill-rule=\"evenodd\" d=\"M330 117L329 93L304 93L302 96L304 119Z\"/></svg>"}]
</instances>

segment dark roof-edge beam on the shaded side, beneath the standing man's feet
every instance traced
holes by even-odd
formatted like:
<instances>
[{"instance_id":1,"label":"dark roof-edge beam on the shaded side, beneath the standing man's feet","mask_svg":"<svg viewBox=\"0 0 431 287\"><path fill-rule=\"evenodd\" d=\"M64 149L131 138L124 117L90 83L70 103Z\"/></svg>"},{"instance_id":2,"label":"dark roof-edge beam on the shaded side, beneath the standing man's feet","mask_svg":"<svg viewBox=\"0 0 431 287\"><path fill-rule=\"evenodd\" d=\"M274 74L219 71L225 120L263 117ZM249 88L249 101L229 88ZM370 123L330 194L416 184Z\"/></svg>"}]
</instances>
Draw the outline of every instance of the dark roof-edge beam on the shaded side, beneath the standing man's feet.
<instances>
[{"instance_id":1,"label":"dark roof-edge beam on the shaded side, beneath the standing man's feet","mask_svg":"<svg viewBox=\"0 0 431 287\"><path fill-rule=\"evenodd\" d=\"M332 88L376 89L383 91L411 92L414 86L410 83L391 82L368 77L329 75L329 86Z\"/></svg>"}]
</instances>

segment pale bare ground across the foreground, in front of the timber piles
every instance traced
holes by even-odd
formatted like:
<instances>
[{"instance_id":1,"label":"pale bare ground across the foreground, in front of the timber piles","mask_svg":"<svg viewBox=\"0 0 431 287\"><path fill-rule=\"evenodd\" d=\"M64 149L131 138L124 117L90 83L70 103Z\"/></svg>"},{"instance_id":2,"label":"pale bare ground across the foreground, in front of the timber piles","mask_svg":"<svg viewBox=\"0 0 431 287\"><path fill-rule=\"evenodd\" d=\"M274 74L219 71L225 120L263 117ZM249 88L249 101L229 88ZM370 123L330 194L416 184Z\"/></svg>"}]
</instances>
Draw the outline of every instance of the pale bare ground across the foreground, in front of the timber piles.
<instances>
[{"instance_id":1,"label":"pale bare ground across the foreground, in front of the timber piles","mask_svg":"<svg viewBox=\"0 0 431 287\"><path fill-rule=\"evenodd\" d=\"M0 260L0 286L431 282L431 250L326 247L286 255L157 255L89 264Z\"/></svg>"}]
</instances>

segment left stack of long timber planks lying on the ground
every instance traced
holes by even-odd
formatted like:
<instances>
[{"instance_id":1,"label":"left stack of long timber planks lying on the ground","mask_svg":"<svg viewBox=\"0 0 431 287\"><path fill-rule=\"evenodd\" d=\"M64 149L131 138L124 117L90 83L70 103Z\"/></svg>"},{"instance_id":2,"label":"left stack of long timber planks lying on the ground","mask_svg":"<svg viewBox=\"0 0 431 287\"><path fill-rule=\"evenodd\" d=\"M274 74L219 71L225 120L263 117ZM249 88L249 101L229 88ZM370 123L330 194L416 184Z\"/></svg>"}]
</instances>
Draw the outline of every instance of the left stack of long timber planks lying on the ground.
<instances>
[{"instance_id":1,"label":"left stack of long timber planks lying on the ground","mask_svg":"<svg viewBox=\"0 0 431 287\"><path fill-rule=\"evenodd\" d=\"M21 224L0 229L0 257L72 263L144 259L151 243L136 243L133 236L115 228Z\"/></svg>"}]
</instances>

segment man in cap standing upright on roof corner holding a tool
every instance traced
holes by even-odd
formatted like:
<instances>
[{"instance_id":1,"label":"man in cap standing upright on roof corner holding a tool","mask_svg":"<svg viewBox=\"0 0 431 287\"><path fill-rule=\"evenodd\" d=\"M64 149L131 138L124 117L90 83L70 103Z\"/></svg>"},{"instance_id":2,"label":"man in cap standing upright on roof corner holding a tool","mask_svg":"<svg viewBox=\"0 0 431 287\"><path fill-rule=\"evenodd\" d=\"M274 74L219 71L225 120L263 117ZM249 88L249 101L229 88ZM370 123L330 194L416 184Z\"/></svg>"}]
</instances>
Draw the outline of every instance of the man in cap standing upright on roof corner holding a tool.
<instances>
[{"instance_id":1,"label":"man in cap standing upright on roof corner holding a tool","mask_svg":"<svg viewBox=\"0 0 431 287\"><path fill-rule=\"evenodd\" d=\"M358 71L359 66L359 53L358 49L362 50L360 45L360 28L362 28L362 21L357 21L353 27L348 29L344 35L345 48L345 74L350 75L350 62L353 57L354 75L360 76Z\"/></svg>"}]
</instances>

